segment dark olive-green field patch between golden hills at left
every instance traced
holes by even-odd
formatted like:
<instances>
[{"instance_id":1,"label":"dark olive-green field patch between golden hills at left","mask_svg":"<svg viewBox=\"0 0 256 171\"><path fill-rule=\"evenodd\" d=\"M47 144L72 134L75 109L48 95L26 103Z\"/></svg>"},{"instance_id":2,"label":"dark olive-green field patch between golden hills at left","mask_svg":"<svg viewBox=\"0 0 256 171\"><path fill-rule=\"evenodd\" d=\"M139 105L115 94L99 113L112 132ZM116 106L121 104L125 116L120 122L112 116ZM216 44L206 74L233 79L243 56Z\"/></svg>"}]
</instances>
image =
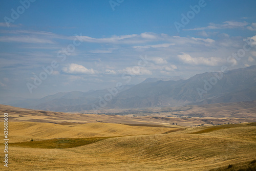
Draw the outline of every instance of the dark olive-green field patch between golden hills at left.
<instances>
[{"instance_id":1,"label":"dark olive-green field patch between golden hills at left","mask_svg":"<svg viewBox=\"0 0 256 171\"><path fill-rule=\"evenodd\" d=\"M99 138L58 138L41 141L26 141L10 143L11 146L27 147L27 148L73 148L82 145L95 143L112 137Z\"/></svg>"}]
</instances>

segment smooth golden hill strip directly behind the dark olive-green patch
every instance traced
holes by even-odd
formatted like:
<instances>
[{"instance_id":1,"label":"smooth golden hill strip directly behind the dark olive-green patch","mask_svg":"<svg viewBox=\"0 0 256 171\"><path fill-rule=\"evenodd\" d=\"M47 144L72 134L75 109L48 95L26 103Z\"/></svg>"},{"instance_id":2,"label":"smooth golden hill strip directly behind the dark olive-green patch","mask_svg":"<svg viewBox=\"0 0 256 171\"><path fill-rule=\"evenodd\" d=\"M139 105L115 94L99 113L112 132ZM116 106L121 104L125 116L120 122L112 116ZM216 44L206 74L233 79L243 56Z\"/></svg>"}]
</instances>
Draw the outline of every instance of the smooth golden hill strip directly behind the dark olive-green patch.
<instances>
[{"instance_id":1,"label":"smooth golden hill strip directly behind the dark olive-green patch","mask_svg":"<svg viewBox=\"0 0 256 171\"><path fill-rule=\"evenodd\" d=\"M1 124L0 129L4 130L4 124ZM60 125L53 123L37 122L9 122L10 142L29 141L31 139L43 140L53 138L88 138L162 134L175 130L179 129L167 126L129 126L114 123Z\"/></svg>"}]
</instances>

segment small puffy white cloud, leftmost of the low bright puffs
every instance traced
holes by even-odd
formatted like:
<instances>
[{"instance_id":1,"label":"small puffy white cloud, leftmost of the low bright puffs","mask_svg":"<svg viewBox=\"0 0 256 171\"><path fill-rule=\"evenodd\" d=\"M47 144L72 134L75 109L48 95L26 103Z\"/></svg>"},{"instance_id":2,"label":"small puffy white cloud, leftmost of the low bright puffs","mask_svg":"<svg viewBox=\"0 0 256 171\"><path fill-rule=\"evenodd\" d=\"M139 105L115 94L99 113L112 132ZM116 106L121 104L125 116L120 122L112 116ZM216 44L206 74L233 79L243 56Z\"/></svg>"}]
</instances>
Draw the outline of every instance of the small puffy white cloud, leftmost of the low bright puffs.
<instances>
[{"instance_id":1,"label":"small puffy white cloud, leftmost of the low bright puffs","mask_svg":"<svg viewBox=\"0 0 256 171\"><path fill-rule=\"evenodd\" d=\"M81 65L77 65L75 63L71 63L67 67L63 67L62 71L68 74L95 74L97 71L94 71L93 69L87 69L86 67L83 67Z\"/></svg>"}]
</instances>

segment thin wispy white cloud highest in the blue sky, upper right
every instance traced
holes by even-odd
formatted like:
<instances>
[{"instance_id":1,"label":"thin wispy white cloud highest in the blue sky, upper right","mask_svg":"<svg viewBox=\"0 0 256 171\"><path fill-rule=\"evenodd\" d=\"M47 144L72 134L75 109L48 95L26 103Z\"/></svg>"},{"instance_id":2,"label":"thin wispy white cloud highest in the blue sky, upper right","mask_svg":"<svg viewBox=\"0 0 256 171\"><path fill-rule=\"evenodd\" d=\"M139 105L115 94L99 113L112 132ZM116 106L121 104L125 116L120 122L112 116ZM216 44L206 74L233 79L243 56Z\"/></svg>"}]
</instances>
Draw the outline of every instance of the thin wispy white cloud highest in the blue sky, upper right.
<instances>
[{"instance_id":1,"label":"thin wispy white cloud highest in the blue sky, upper right","mask_svg":"<svg viewBox=\"0 0 256 171\"><path fill-rule=\"evenodd\" d=\"M209 26L207 27L198 27L194 29L183 29L183 30L236 29L236 28L244 28L247 25L248 25L247 22L226 21L226 22L223 22L223 24L209 23Z\"/></svg>"}]
</instances>

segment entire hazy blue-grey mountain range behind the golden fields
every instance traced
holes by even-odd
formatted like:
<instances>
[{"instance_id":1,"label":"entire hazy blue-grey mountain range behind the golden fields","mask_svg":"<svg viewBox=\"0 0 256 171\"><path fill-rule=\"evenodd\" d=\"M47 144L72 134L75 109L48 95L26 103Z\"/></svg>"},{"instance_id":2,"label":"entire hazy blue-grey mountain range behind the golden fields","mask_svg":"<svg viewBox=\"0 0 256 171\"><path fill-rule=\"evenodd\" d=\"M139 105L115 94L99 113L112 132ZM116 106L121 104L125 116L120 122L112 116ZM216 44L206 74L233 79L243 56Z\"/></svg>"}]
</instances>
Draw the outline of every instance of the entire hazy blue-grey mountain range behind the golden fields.
<instances>
[{"instance_id":1,"label":"entire hazy blue-grey mountain range behind the golden fields","mask_svg":"<svg viewBox=\"0 0 256 171\"><path fill-rule=\"evenodd\" d=\"M163 81L150 78L135 86L57 93L38 100L6 104L37 110L77 112L252 100L256 100L256 66L226 73L206 72L187 80Z\"/></svg>"}]
</instances>

